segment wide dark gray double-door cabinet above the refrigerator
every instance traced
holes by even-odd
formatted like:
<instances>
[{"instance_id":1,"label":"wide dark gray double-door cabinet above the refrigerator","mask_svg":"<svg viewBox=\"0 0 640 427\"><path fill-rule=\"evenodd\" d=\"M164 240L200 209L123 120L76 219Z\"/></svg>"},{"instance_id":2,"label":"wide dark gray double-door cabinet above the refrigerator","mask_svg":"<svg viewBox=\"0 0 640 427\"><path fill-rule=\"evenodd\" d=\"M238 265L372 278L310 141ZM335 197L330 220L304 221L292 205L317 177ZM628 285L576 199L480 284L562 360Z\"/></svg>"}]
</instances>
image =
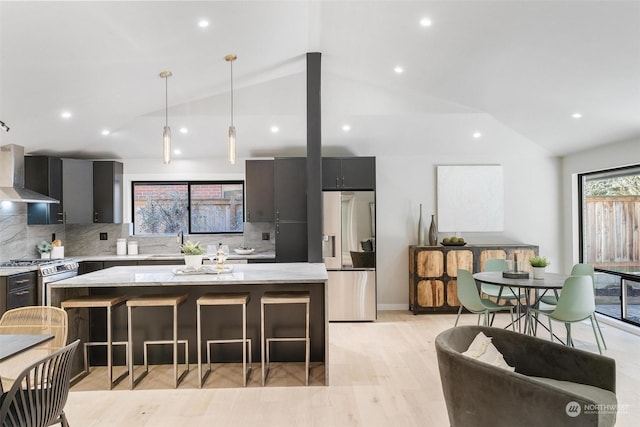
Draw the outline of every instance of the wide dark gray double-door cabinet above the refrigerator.
<instances>
[{"instance_id":1,"label":"wide dark gray double-door cabinet above the refrigerator","mask_svg":"<svg viewBox=\"0 0 640 427\"><path fill-rule=\"evenodd\" d=\"M375 190L375 157L323 157L323 190Z\"/></svg>"}]
</instances>

